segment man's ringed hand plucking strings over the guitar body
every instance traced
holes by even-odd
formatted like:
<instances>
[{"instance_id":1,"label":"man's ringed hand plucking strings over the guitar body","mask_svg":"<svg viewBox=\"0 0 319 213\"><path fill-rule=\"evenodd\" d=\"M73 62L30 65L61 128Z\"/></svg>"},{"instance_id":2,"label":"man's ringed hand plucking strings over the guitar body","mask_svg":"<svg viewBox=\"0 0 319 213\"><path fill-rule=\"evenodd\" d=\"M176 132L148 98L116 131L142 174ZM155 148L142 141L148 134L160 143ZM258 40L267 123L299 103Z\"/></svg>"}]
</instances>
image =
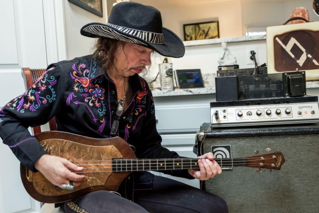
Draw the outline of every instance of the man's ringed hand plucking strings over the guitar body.
<instances>
[{"instance_id":1,"label":"man's ringed hand plucking strings over the guitar body","mask_svg":"<svg viewBox=\"0 0 319 213\"><path fill-rule=\"evenodd\" d=\"M86 178L85 175L78 175L70 171L79 172L83 167L79 167L65 158L54 155L42 155L37 162L35 162L34 167L52 184L59 187L61 187L62 184L69 184L70 180L74 186L79 186Z\"/></svg>"}]
</instances>

